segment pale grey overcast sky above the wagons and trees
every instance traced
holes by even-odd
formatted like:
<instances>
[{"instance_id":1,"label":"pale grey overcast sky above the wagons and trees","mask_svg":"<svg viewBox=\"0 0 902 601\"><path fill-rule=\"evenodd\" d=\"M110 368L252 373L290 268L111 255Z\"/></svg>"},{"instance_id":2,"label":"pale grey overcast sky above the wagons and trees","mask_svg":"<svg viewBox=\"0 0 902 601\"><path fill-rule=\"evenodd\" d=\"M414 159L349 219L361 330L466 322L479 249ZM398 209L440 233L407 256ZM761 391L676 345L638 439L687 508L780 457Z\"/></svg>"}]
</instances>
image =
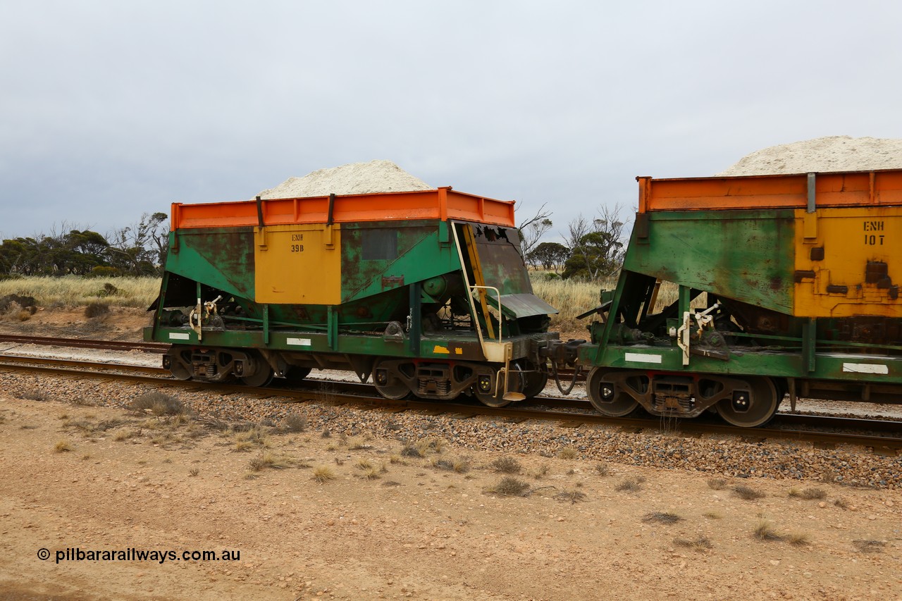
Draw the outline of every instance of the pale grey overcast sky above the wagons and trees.
<instances>
[{"instance_id":1,"label":"pale grey overcast sky above the wagons and trees","mask_svg":"<svg viewBox=\"0 0 902 601\"><path fill-rule=\"evenodd\" d=\"M0 0L0 236L102 234L390 159L554 210L635 207L823 135L902 138L902 4Z\"/></svg>"}]
</instances>

